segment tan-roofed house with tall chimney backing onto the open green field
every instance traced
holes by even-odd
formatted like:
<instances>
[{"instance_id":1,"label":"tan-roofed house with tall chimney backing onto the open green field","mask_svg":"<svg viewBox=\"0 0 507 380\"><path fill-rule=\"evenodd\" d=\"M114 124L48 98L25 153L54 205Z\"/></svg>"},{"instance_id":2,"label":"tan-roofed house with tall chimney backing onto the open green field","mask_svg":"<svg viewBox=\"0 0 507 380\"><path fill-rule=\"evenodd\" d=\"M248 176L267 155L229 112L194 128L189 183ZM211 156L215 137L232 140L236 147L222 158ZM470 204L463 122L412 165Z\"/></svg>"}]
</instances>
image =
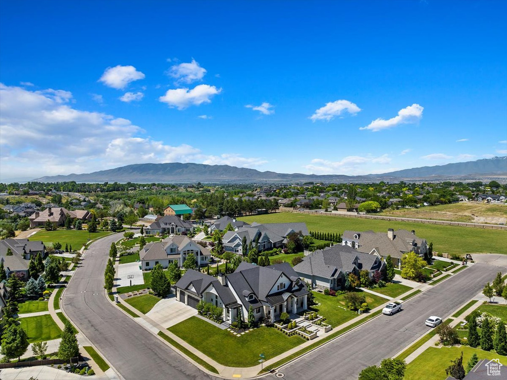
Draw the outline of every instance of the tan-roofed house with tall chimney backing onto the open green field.
<instances>
[{"instance_id":1,"label":"tan-roofed house with tall chimney backing onto the open green field","mask_svg":"<svg viewBox=\"0 0 507 380\"><path fill-rule=\"evenodd\" d=\"M390 255L392 264L399 268L402 265L403 254L415 252L422 257L428 250L426 239L417 237L414 230L394 231L389 228L387 233L344 231L342 239L342 245L352 247L359 252L374 254L384 259Z\"/></svg>"}]
</instances>

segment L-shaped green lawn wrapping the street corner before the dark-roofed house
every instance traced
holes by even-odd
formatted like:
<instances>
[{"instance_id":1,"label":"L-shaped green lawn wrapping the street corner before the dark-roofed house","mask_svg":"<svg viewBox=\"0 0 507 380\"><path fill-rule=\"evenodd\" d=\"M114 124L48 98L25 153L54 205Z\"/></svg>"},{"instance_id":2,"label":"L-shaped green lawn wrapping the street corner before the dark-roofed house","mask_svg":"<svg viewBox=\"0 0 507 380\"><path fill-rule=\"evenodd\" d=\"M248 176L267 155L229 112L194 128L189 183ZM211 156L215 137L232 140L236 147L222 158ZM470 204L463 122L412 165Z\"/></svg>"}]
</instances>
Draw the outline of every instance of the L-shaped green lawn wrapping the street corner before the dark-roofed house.
<instances>
[{"instance_id":1,"label":"L-shaped green lawn wrapping the street corner before the dark-roofed house","mask_svg":"<svg viewBox=\"0 0 507 380\"><path fill-rule=\"evenodd\" d=\"M259 364L261 353L271 359L306 341L300 336L286 336L265 326L238 337L197 317L180 322L169 331L209 358L232 367L255 366Z\"/></svg>"}]
</instances>

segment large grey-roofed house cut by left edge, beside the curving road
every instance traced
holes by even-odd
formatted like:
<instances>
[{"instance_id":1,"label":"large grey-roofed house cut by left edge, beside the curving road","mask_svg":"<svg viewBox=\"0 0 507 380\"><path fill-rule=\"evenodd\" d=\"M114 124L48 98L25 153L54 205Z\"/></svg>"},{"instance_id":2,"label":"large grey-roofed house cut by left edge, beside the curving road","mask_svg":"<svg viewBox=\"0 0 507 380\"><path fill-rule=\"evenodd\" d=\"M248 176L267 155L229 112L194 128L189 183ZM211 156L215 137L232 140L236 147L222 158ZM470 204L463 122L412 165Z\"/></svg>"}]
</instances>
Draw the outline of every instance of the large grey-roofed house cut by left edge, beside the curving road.
<instances>
[{"instance_id":1,"label":"large grey-roofed house cut by left edge, beside the curving road","mask_svg":"<svg viewBox=\"0 0 507 380\"><path fill-rule=\"evenodd\" d=\"M8 250L12 255L7 255ZM20 273L23 279L28 279L28 264L32 257L39 253L44 254L46 247L42 241L29 241L28 239L7 238L0 240L0 260L4 262L7 277L11 273Z\"/></svg>"}]
</instances>

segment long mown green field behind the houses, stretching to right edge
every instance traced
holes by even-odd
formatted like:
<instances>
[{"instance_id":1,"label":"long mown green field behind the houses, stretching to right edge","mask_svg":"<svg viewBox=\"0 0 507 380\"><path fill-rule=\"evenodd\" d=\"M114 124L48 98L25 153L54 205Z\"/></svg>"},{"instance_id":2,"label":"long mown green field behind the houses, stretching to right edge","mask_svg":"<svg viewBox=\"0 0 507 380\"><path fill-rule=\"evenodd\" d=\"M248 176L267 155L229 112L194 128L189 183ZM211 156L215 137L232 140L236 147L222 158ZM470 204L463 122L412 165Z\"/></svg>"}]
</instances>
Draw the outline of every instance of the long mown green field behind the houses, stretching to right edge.
<instances>
[{"instance_id":1,"label":"long mown green field behind the houses, stretching to right edge","mask_svg":"<svg viewBox=\"0 0 507 380\"><path fill-rule=\"evenodd\" d=\"M238 218L253 223L305 222L309 230L342 233L345 230L387 232L388 228L415 230L417 236L433 243L436 252L454 254L500 253L507 255L507 231L472 227L439 226L434 224L356 219L328 215L276 213Z\"/></svg>"}]
</instances>

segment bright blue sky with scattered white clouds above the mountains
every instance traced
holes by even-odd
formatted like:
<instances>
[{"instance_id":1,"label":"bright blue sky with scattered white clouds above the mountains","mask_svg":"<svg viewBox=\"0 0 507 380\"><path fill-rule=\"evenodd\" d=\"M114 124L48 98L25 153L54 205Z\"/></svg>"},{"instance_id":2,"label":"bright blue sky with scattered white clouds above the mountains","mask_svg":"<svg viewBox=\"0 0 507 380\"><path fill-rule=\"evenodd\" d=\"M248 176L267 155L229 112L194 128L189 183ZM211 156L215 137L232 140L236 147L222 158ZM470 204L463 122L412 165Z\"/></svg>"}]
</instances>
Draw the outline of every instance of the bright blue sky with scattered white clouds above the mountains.
<instances>
[{"instance_id":1,"label":"bright blue sky with scattered white clouds above the mountains","mask_svg":"<svg viewBox=\"0 0 507 380\"><path fill-rule=\"evenodd\" d=\"M507 154L507 2L0 3L0 180Z\"/></svg>"}]
</instances>

